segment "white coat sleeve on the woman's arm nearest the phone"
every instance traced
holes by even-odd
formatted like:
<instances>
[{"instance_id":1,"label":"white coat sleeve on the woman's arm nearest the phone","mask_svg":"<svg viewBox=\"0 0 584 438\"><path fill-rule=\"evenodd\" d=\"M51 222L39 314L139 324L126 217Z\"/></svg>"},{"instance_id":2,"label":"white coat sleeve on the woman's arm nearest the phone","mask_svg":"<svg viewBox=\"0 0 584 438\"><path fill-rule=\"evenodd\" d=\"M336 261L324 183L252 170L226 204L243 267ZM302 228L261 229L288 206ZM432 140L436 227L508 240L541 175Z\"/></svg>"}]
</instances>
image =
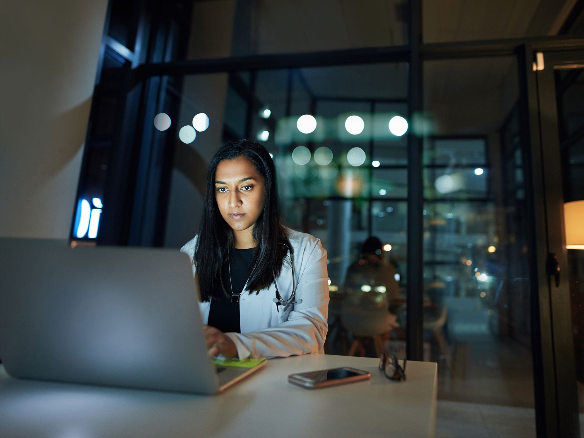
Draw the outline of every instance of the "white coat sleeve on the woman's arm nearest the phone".
<instances>
[{"instance_id":1,"label":"white coat sleeve on the woman's arm nearest the phone","mask_svg":"<svg viewBox=\"0 0 584 438\"><path fill-rule=\"evenodd\" d=\"M226 333L239 358L286 357L320 352L328 331L328 273L326 250L319 239L297 279L296 301L286 321L248 333ZM282 308L280 307L280 312Z\"/></svg>"}]
</instances>

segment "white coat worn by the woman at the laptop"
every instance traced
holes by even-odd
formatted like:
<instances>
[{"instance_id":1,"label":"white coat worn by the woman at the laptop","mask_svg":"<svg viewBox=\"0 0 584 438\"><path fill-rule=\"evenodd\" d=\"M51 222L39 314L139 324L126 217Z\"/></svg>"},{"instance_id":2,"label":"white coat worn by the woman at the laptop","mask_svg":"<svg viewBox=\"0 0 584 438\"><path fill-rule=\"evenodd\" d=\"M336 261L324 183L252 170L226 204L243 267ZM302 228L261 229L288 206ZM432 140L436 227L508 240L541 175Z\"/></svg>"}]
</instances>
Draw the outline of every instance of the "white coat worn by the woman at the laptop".
<instances>
[{"instance_id":1,"label":"white coat worn by the woman at the laptop","mask_svg":"<svg viewBox=\"0 0 584 438\"><path fill-rule=\"evenodd\" d=\"M241 333L225 333L235 343L239 359L246 357L278 357L294 354L324 353L328 331L328 274L326 250L320 239L287 228L294 249L294 280L296 296L292 301L302 303L280 305L276 310L274 284L259 294L245 290L239 297ZM195 236L180 251L193 259ZM289 253L288 253L289 256ZM292 294L292 271L286 263L276 277L281 297ZM196 268L193 265L193 275ZM203 323L207 324L211 302L200 302Z\"/></svg>"}]
</instances>

